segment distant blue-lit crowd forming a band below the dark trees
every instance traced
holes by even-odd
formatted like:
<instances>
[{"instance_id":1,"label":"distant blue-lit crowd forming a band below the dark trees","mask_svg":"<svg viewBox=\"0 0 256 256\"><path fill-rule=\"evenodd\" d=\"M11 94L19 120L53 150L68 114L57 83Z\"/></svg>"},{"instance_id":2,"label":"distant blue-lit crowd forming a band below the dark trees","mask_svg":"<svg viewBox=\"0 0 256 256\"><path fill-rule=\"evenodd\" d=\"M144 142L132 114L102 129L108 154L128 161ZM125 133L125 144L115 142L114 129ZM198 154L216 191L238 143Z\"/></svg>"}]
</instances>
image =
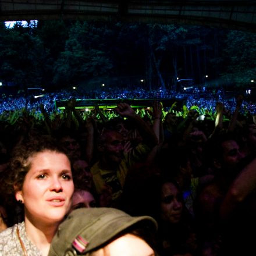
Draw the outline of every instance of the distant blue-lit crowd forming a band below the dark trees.
<instances>
[{"instance_id":1,"label":"distant blue-lit crowd forming a band below the dark trees","mask_svg":"<svg viewBox=\"0 0 256 256\"><path fill-rule=\"evenodd\" d=\"M43 93L43 92L42 92ZM38 95L6 95L0 99L0 114L8 111L16 111L26 108L30 112L41 112L41 105L44 105L48 113L58 111L55 101L63 101L71 98L76 99L161 99L177 98L186 100L187 108L198 106L199 109L215 111L216 102L223 102L228 111L233 112L236 108L235 93L232 96L225 95L223 90L208 90L199 93L198 90L183 91L177 93L172 90L146 90L142 87L135 88L108 88L94 89L86 91L75 88L73 90L59 90L55 93L45 93L41 97ZM244 111L255 113L255 102L244 101L242 108Z\"/></svg>"}]
</instances>

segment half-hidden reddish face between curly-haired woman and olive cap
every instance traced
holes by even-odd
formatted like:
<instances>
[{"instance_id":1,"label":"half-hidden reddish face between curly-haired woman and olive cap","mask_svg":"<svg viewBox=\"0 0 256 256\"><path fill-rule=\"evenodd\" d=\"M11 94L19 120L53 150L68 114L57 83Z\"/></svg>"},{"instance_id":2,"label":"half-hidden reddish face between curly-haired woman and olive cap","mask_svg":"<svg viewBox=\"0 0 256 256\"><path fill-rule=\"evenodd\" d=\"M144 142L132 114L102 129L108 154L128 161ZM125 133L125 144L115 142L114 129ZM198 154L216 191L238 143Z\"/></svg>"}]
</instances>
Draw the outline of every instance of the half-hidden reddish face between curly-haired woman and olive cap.
<instances>
[{"instance_id":1,"label":"half-hidden reddish face between curly-haired woman and olive cap","mask_svg":"<svg viewBox=\"0 0 256 256\"><path fill-rule=\"evenodd\" d=\"M86 190L76 190L73 194L71 210L78 208L96 207L96 202L93 195Z\"/></svg>"}]
</instances>

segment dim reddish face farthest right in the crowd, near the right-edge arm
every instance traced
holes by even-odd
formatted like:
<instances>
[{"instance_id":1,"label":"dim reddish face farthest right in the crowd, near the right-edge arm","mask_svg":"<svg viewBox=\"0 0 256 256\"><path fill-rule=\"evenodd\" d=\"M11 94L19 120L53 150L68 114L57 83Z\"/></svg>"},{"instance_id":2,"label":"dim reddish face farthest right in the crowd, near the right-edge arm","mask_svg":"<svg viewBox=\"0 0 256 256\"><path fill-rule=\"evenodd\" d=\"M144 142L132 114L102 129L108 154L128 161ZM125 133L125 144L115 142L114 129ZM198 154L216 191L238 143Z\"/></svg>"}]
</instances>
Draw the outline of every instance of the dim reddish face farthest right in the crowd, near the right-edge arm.
<instances>
[{"instance_id":1,"label":"dim reddish face farthest right in the crowd, near the right-edge arm","mask_svg":"<svg viewBox=\"0 0 256 256\"><path fill-rule=\"evenodd\" d=\"M223 165L227 168L233 168L243 158L239 150L239 145L234 140L227 140L222 143Z\"/></svg>"}]
</instances>

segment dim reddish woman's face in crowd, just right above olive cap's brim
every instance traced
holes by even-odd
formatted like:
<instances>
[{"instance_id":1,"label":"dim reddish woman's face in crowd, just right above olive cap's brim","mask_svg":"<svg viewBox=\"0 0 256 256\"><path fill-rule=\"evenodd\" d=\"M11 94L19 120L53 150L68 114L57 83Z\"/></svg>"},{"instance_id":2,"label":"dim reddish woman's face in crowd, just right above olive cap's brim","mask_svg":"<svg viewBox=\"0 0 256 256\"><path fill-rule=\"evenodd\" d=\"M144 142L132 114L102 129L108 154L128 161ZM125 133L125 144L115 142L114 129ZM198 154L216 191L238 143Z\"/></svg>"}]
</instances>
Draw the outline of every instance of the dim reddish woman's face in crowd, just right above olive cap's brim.
<instances>
[{"instance_id":1,"label":"dim reddish woman's face in crowd, just right above olive cap's brim","mask_svg":"<svg viewBox=\"0 0 256 256\"><path fill-rule=\"evenodd\" d=\"M171 182L164 183L161 192L161 218L178 223L182 217L182 194Z\"/></svg>"}]
</instances>

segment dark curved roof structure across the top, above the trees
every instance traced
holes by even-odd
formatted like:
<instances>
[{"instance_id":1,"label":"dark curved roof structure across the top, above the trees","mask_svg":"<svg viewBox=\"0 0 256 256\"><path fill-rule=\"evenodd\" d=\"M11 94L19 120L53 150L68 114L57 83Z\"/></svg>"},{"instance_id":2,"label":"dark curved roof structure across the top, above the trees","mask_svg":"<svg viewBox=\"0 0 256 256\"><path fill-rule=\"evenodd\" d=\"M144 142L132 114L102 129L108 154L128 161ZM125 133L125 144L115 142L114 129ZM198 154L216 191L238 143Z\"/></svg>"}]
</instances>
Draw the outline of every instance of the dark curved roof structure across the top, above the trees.
<instances>
[{"instance_id":1,"label":"dark curved roof structure across the top, above the trees","mask_svg":"<svg viewBox=\"0 0 256 256\"><path fill-rule=\"evenodd\" d=\"M0 20L83 19L175 23L256 31L256 1L1 0Z\"/></svg>"}]
</instances>

